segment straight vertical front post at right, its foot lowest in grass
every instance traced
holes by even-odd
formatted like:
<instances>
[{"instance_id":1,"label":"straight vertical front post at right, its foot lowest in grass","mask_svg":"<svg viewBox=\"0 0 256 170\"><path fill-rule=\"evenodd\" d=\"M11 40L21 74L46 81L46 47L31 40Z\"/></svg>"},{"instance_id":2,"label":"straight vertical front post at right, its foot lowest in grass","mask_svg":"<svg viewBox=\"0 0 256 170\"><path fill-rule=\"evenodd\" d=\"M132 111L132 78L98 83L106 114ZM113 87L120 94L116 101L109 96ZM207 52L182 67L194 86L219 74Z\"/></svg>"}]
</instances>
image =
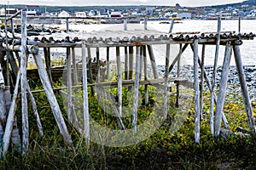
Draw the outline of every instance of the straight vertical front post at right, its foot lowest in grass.
<instances>
[{"instance_id":1,"label":"straight vertical front post at right, its foot lowest in grass","mask_svg":"<svg viewBox=\"0 0 256 170\"><path fill-rule=\"evenodd\" d=\"M194 88L195 88L195 143L200 144L200 108L198 81L198 39L194 40Z\"/></svg>"}]
</instances>

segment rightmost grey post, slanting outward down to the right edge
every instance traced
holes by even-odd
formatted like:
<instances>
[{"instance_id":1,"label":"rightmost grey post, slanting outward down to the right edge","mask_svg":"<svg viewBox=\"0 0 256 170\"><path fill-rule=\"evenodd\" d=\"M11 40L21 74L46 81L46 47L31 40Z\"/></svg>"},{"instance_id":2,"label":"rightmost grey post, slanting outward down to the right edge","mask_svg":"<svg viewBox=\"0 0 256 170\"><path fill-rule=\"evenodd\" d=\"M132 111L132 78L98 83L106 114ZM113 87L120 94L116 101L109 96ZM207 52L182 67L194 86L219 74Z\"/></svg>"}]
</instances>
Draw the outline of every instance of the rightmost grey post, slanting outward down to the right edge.
<instances>
[{"instance_id":1,"label":"rightmost grey post, slanting outward down to the right edge","mask_svg":"<svg viewBox=\"0 0 256 170\"><path fill-rule=\"evenodd\" d=\"M239 77L239 81L240 81L240 85L241 85L241 94L243 96L243 101L244 101L245 109L247 112L248 126L250 127L250 130L252 133L256 133L255 121L254 121L254 117L253 117L253 109L252 109L252 105L251 105L250 98L248 95L246 77L245 77L243 67L242 67L240 48L239 48L239 46L234 45L233 50L234 50L234 54L235 54L236 69L238 72L238 77Z\"/></svg>"}]
</instances>

